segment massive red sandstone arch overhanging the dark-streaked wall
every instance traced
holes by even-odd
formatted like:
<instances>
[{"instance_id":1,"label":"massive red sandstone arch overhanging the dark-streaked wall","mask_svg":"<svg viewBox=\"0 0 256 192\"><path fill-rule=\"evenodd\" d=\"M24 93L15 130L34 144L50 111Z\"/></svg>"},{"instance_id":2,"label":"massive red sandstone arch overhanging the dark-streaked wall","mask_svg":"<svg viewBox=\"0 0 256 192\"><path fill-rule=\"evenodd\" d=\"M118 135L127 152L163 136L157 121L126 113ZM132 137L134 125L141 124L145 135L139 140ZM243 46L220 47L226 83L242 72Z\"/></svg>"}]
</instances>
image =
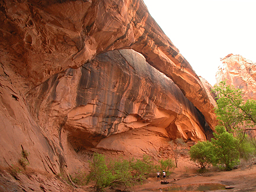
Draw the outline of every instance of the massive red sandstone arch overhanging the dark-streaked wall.
<instances>
[{"instance_id":1,"label":"massive red sandstone arch overhanging the dark-streaked wall","mask_svg":"<svg viewBox=\"0 0 256 192\"><path fill-rule=\"evenodd\" d=\"M20 75L13 82L25 79L23 93L98 53L132 48L171 78L215 126L214 105L199 77L143 1L2 1L0 14L1 62L8 75Z\"/></svg>"}]
</instances>

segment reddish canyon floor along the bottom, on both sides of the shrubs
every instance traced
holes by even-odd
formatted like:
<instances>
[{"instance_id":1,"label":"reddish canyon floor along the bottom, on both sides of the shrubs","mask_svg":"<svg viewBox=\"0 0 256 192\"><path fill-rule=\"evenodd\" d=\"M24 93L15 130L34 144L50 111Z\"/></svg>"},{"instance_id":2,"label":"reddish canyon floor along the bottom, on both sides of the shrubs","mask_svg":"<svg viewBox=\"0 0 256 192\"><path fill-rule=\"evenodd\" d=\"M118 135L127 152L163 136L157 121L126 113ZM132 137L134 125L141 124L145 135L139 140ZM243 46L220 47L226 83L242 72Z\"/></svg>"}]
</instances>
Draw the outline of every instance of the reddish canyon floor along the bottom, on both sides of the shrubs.
<instances>
[{"instance_id":1,"label":"reddish canyon floor along the bottom, on both sides of the shrubs","mask_svg":"<svg viewBox=\"0 0 256 192\"><path fill-rule=\"evenodd\" d=\"M148 178L142 185L127 188L127 191L256 191L256 163L243 163L232 171L219 171L208 168L208 172L199 174L199 167L188 158L178 161L178 168L167 177L168 184L161 184L155 178ZM64 191L84 192L94 191L93 185L73 188L66 181L57 177L40 174L40 172L23 172L23 174L10 175L8 171L0 171L0 191ZM229 188L225 188L229 187ZM116 190L119 192L120 190ZM105 189L105 192L113 190Z\"/></svg>"}]
</instances>

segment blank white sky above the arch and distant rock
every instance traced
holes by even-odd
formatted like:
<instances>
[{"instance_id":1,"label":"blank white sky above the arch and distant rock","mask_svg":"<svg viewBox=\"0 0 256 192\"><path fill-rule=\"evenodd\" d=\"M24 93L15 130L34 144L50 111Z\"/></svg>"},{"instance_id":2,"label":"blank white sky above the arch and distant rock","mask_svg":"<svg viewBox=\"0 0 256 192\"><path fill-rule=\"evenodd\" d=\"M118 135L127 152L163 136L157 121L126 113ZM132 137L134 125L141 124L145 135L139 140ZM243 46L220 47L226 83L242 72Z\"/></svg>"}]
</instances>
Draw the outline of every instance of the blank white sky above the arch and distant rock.
<instances>
[{"instance_id":1,"label":"blank white sky above the arch and distant rock","mask_svg":"<svg viewBox=\"0 0 256 192\"><path fill-rule=\"evenodd\" d=\"M197 75L216 83L220 57L256 62L256 0L143 0Z\"/></svg>"}]
</instances>

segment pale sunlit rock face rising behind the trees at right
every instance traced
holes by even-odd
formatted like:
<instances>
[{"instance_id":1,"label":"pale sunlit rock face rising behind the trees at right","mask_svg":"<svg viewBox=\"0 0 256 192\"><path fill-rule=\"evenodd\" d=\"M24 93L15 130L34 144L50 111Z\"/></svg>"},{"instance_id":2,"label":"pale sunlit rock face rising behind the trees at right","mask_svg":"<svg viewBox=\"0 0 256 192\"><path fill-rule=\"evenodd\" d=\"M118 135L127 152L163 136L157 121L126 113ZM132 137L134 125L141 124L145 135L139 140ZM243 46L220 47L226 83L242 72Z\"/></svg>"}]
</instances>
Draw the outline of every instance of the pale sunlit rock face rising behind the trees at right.
<instances>
[{"instance_id":1,"label":"pale sunlit rock face rising behind the trees at right","mask_svg":"<svg viewBox=\"0 0 256 192\"><path fill-rule=\"evenodd\" d=\"M240 55L229 54L222 59L223 66L216 73L216 81L224 81L243 90L243 98L256 100L256 65Z\"/></svg>"}]
</instances>

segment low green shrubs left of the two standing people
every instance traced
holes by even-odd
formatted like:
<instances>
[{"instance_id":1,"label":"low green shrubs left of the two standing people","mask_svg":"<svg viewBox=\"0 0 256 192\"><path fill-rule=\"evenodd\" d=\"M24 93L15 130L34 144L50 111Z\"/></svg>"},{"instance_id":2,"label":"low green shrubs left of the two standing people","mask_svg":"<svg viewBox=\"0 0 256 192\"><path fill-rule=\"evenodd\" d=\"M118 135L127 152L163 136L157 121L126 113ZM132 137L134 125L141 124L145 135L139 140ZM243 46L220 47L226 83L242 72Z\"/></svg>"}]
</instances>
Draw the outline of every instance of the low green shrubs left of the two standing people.
<instances>
[{"instance_id":1,"label":"low green shrubs left of the two standing people","mask_svg":"<svg viewBox=\"0 0 256 192\"><path fill-rule=\"evenodd\" d=\"M97 190L109 186L130 187L152 177L152 174L156 175L159 170L164 170L169 175L174 167L172 159L161 159L158 164L154 164L150 156L144 155L143 159L116 159L107 162L104 155L94 153L87 182L95 181Z\"/></svg>"}]
</instances>

